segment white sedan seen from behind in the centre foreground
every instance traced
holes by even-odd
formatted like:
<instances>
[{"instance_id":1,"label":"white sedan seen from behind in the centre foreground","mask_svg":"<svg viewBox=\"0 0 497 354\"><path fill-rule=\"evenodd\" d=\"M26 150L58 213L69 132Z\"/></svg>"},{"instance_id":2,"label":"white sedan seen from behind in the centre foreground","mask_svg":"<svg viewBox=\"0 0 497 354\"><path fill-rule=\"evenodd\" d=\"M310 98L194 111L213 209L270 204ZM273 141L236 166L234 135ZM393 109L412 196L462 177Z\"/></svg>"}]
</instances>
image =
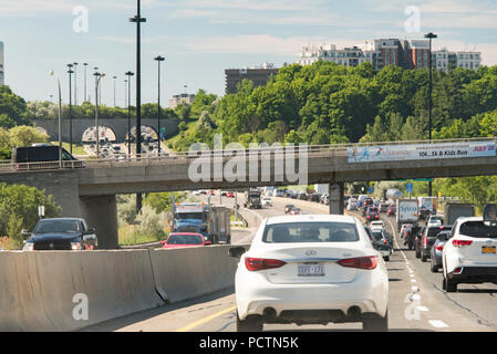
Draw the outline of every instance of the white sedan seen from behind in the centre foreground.
<instances>
[{"instance_id":1,"label":"white sedan seen from behind in the centre foreground","mask_svg":"<svg viewBox=\"0 0 497 354\"><path fill-rule=\"evenodd\" d=\"M265 323L362 322L387 330L389 275L361 221L336 215L266 219L241 257L235 290L237 330Z\"/></svg>"}]
</instances>

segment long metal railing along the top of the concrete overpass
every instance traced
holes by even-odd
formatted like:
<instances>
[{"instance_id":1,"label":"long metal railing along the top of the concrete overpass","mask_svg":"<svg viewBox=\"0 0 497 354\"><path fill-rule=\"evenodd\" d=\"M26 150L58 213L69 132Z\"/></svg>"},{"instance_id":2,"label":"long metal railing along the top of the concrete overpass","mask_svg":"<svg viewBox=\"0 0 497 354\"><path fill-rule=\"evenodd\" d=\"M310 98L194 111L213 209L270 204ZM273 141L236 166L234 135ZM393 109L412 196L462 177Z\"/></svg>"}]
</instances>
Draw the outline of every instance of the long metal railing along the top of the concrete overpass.
<instances>
[{"instance_id":1,"label":"long metal railing along the top of the concrete overpass","mask_svg":"<svg viewBox=\"0 0 497 354\"><path fill-rule=\"evenodd\" d=\"M331 156L346 156L346 149L349 147L364 147L364 146L397 146L397 145L413 145L413 144L448 144L448 143L465 143L465 142L491 142L495 137L482 137L482 138L454 138L454 139L438 139L438 140L400 140L400 142L371 142L371 143L354 143L354 144L333 144L333 145L307 145L307 146L259 146L256 148L241 149L246 157L250 157L250 154L288 154L293 152L298 157L299 152L306 152L308 155L331 155ZM222 158L230 159L235 155L227 154L227 152L235 152L237 149L213 149L213 150L195 150L195 152L174 152L174 154L162 155L133 155L131 157L114 157L114 158L96 158L90 157L81 160L63 160L60 162L46 162L46 163L24 163L14 164L10 160L0 160L0 171L22 171L22 170L40 170L40 169L58 169L58 168L106 168L106 167L126 167L136 165L155 165L164 163L188 163L190 159L198 157L209 158Z\"/></svg>"}]
</instances>

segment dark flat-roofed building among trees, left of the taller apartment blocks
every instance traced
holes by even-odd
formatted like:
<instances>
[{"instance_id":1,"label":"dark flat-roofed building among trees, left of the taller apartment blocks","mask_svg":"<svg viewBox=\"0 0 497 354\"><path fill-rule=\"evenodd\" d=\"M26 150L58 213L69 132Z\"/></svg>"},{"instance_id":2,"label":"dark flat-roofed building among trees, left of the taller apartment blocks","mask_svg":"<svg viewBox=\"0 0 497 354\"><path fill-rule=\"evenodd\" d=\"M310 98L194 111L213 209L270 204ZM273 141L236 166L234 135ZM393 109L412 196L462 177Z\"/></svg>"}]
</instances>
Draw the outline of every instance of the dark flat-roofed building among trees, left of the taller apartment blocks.
<instances>
[{"instance_id":1,"label":"dark flat-roofed building among trees, left of the taller apartment blocks","mask_svg":"<svg viewBox=\"0 0 497 354\"><path fill-rule=\"evenodd\" d=\"M265 86L271 75L278 74L279 69L272 63L265 63L261 66L225 70L226 94L237 92L237 86L242 80L250 80L253 87Z\"/></svg>"}]
</instances>

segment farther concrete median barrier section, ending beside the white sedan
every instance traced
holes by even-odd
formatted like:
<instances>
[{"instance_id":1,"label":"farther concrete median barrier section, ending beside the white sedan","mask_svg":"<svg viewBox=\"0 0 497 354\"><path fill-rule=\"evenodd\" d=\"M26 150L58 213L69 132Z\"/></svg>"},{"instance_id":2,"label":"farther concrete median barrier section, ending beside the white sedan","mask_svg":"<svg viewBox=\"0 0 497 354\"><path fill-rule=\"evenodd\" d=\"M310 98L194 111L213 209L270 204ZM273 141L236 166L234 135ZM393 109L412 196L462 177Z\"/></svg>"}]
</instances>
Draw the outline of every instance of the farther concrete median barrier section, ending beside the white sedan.
<instances>
[{"instance_id":1,"label":"farther concrete median barrier section, ending beside the white sedan","mask_svg":"<svg viewBox=\"0 0 497 354\"><path fill-rule=\"evenodd\" d=\"M174 303L232 287L238 260L230 247L151 250L157 292Z\"/></svg>"}]
</instances>

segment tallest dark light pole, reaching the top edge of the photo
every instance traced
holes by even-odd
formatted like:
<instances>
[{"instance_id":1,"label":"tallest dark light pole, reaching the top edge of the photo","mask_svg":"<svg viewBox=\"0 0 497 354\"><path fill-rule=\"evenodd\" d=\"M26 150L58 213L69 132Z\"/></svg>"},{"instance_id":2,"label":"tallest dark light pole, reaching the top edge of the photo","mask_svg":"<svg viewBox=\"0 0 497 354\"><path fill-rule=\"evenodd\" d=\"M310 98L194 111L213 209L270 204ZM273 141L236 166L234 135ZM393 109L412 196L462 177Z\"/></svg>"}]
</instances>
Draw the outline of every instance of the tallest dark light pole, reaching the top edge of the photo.
<instances>
[{"instance_id":1,"label":"tallest dark light pole, reaching the top edge of the photo","mask_svg":"<svg viewBox=\"0 0 497 354\"><path fill-rule=\"evenodd\" d=\"M142 23L146 22L141 14L139 0L136 0L136 15L130 22L136 23L136 157L142 154ZM136 210L142 210L142 195L136 195Z\"/></svg>"}]
</instances>

